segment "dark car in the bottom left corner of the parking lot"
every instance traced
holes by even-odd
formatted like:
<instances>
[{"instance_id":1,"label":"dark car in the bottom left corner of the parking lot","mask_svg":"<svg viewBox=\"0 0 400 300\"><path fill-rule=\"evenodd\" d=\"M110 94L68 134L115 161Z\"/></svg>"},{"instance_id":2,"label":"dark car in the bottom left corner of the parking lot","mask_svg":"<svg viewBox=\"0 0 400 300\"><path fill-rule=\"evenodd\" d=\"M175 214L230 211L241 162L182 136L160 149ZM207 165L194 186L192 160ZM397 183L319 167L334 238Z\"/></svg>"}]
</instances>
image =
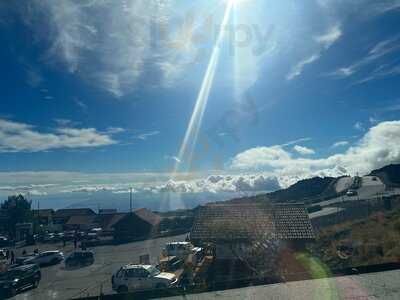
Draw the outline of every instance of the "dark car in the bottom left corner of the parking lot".
<instances>
[{"instance_id":1,"label":"dark car in the bottom left corner of the parking lot","mask_svg":"<svg viewBox=\"0 0 400 300\"><path fill-rule=\"evenodd\" d=\"M9 269L0 275L0 295L14 296L27 288L36 288L41 279L37 265L24 265Z\"/></svg>"}]
</instances>

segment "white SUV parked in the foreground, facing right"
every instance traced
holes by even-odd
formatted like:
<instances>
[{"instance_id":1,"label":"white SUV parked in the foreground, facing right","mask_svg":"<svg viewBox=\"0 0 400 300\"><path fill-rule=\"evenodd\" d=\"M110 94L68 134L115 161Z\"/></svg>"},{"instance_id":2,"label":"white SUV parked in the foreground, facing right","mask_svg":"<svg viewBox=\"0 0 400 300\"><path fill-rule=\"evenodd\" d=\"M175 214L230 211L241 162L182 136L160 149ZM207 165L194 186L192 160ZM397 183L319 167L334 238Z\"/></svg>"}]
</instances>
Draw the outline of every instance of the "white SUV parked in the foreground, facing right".
<instances>
[{"instance_id":1,"label":"white SUV parked in the foreground, facing right","mask_svg":"<svg viewBox=\"0 0 400 300\"><path fill-rule=\"evenodd\" d=\"M112 288L118 293L137 290L166 289L177 284L173 273L160 272L152 265L126 265L112 276Z\"/></svg>"}]
</instances>

